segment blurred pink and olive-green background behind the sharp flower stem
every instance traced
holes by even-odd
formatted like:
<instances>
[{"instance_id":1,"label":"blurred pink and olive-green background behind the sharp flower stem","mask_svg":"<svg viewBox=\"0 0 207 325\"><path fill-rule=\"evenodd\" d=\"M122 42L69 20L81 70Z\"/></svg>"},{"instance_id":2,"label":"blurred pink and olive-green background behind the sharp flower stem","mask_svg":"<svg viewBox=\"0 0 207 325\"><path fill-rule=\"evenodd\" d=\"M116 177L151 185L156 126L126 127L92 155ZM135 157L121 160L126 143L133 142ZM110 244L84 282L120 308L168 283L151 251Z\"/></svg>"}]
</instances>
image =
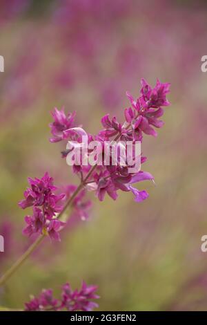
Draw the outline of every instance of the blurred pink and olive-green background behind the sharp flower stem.
<instances>
[{"instance_id":1,"label":"blurred pink and olive-green background behind the sharp flower stem","mask_svg":"<svg viewBox=\"0 0 207 325\"><path fill-rule=\"evenodd\" d=\"M132 195L102 203L93 196L90 218L73 219L61 243L49 241L0 291L0 305L23 308L42 288L59 294L99 286L100 310L206 310L207 234L206 1L1 0L0 253L3 273L26 250L28 211L17 203L27 178L48 171L56 185L78 179L49 142L50 111L65 106L90 133L106 113L123 119L126 91L139 95L141 77L171 83L165 125L142 145L141 184L148 200Z\"/></svg>"}]
</instances>

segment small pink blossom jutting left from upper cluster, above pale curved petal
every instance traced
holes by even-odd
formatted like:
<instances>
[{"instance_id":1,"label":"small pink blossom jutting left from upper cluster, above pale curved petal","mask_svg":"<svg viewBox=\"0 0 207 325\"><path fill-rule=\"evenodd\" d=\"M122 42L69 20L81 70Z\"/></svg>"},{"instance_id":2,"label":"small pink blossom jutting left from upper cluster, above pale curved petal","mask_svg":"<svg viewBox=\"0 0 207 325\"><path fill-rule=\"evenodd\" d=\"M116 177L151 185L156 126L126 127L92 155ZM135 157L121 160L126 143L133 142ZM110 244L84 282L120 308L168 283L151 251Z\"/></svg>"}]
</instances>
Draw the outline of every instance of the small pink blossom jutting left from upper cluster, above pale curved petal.
<instances>
[{"instance_id":1,"label":"small pink blossom jutting left from upper cluster, above pale curved petal","mask_svg":"<svg viewBox=\"0 0 207 325\"><path fill-rule=\"evenodd\" d=\"M59 142L63 140L63 131L72 127L75 112L66 115L63 108L59 111L55 107L54 112L52 112L52 117L54 118L54 122L50 123L50 129L53 138L50 138L50 142Z\"/></svg>"}]
</instances>

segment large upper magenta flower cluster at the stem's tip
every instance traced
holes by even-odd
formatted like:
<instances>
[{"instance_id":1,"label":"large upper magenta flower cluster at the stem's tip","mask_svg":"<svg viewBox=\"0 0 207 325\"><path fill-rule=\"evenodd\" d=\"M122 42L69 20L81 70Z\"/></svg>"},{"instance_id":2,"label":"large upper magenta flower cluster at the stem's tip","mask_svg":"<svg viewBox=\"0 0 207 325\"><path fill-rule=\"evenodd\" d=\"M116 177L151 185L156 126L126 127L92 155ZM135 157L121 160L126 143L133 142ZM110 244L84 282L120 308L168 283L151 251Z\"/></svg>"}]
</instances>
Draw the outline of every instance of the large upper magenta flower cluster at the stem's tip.
<instances>
[{"instance_id":1,"label":"large upper magenta flower cluster at the stem's tip","mask_svg":"<svg viewBox=\"0 0 207 325\"><path fill-rule=\"evenodd\" d=\"M169 93L170 84L161 83L157 80L155 88L152 89L150 85L144 80L141 80L140 95L135 100L130 93L126 93L130 100L130 107L124 110L125 122L120 123L116 117L110 120L109 115L103 116L101 124L103 129L99 131L96 136L87 134L81 127L74 127L75 113L66 115L63 111L55 111L52 113L54 122L50 124L52 135L59 140L67 140L67 150L64 151L63 157L66 157L69 152L77 147L82 150L81 162L75 162L73 171L79 174L83 185L86 189L95 191L96 196L100 201L103 201L105 194L108 194L112 199L117 199L117 191L132 192L135 196L135 201L140 202L148 197L146 191L140 191L132 185L139 183L142 180L153 180L153 176L146 171L131 172L129 165L121 165L119 160L116 164L112 163L112 155L110 154L109 165L98 165L92 167L83 164L83 147L81 138L88 136L88 143L98 140L101 142L101 149L99 148L99 158L103 160L104 151L106 150L104 142L117 141L121 142L131 141L135 145L136 141L143 141L143 133L157 136L155 128L160 128L164 124L159 118L164 113L164 106L170 103L166 99L166 94ZM72 120L72 123L71 123ZM71 125L72 124L72 125ZM68 127L68 125L72 127ZM58 127L57 127L58 126ZM66 129L68 127L68 129ZM55 142L55 138L50 141ZM69 149L68 149L69 148ZM146 157L140 156L141 164L146 161ZM90 176L88 177L88 171ZM85 181L85 178L87 182Z\"/></svg>"}]
</instances>

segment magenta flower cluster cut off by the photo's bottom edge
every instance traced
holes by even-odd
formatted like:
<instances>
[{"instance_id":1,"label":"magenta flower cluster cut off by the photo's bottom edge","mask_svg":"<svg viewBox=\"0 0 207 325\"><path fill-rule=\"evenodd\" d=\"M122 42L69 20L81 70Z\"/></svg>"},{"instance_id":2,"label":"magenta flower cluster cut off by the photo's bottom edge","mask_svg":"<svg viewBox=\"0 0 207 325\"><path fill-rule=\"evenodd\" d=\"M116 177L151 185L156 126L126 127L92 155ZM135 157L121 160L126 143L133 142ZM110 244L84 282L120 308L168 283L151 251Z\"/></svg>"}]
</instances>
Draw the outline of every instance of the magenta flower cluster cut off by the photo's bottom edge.
<instances>
[{"instance_id":1,"label":"magenta flower cluster cut off by the photo's bottom edge","mask_svg":"<svg viewBox=\"0 0 207 325\"><path fill-rule=\"evenodd\" d=\"M92 299L98 299L95 294L97 286L87 286L83 281L80 290L72 290L70 284L65 284L62 288L61 299L55 299L52 290L42 290L39 297L31 297L25 304L26 311L49 311L49 310L69 310L69 311L92 311L98 304Z\"/></svg>"}]
</instances>

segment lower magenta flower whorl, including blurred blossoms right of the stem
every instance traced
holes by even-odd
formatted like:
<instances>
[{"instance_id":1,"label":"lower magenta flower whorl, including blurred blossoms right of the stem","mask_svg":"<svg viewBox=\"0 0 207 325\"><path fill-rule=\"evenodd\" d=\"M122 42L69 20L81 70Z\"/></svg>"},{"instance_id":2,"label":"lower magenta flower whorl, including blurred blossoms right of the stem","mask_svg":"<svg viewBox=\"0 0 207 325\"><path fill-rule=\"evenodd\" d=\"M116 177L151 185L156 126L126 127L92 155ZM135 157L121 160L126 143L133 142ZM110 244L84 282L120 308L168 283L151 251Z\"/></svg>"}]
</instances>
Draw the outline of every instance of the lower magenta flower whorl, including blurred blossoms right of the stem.
<instances>
[{"instance_id":1,"label":"lower magenta flower whorl, including blurred blossoms right of the stem","mask_svg":"<svg viewBox=\"0 0 207 325\"><path fill-rule=\"evenodd\" d=\"M59 231L65 223L58 219L63 205L68 201L77 189L76 185L67 185L64 194L55 194L57 187L53 185L53 179L46 173L42 178L28 178L30 187L24 192L24 199L19 202L22 209L32 207L32 215L25 217L26 228L23 234L48 234L51 240L60 241ZM86 190L82 189L72 201L72 215L81 220L88 219L88 212L92 205L90 200L85 199Z\"/></svg>"}]
</instances>

